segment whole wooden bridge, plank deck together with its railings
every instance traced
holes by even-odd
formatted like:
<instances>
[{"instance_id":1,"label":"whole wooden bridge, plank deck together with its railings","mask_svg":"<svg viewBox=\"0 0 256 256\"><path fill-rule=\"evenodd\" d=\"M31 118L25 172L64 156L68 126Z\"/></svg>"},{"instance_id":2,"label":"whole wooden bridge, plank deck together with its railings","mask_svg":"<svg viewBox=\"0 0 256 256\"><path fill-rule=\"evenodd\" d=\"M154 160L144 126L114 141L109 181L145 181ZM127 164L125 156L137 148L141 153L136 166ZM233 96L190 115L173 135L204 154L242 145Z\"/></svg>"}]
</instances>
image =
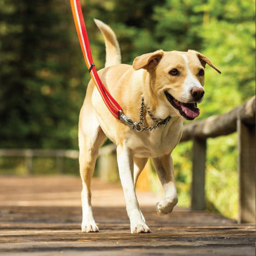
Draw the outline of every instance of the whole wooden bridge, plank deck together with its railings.
<instances>
[{"instance_id":1,"label":"whole wooden bridge, plank deck together with its railings","mask_svg":"<svg viewBox=\"0 0 256 256\"><path fill-rule=\"evenodd\" d=\"M239 220L204 213L206 140L238 131ZM92 203L100 232L80 233L81 181L73 176L0 176L1 255L255 255L255 97L227 114L196 121L183 129L182 141L193 140L192 210L175 208L159 217L160 198L138 192L153 233L129 234L123 192L103 182L105 158L114 169L114 146L101 149L101 180L92 183ZM0 156L78 158L75 150L0 150ZM199 156L199 157L198 157ZM106 177L105 177L106 178ZM246 223L246 224L245 224Z\"/></svg>"}]
</instances>

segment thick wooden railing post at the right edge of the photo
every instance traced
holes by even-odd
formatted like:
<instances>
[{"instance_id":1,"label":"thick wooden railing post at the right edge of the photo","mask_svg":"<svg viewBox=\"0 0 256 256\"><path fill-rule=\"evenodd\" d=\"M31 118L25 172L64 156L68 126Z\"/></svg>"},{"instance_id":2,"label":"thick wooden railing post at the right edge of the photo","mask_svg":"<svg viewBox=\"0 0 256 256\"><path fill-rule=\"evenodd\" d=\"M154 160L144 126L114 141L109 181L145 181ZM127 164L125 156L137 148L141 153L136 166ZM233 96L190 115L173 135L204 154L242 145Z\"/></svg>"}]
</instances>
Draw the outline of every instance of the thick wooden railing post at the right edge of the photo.
<instances>
[{"instance_id":1,"label":"thick wooden railing post at the right edge of the photo","mask_svg":"<svg viewBox=\"0 0 256 256\"><path fill-rule=\"evenodd\" d=\"M237 120L238 130L238 221L255 222L255 125Z\"/></svg>"}]
</instances>

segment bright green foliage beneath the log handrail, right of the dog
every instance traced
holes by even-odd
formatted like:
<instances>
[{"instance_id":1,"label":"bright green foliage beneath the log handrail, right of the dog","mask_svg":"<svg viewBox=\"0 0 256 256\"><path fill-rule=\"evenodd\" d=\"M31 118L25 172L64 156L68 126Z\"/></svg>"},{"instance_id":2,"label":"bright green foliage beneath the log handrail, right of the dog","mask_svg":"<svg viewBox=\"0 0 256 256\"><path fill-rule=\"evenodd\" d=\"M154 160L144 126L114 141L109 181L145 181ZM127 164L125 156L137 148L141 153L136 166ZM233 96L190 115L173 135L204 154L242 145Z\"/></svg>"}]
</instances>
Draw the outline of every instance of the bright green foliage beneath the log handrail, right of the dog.
<instances>
[{"instance_id":1,"label":"bright green foliage beneath the log handrail, right of the dog","mask_svg":"<svg viewBox=\"0 0 256 256\"><path fill-rule=\"evenodd\" d=\"M238 217L237 133L207 140L206 210ZM192 181L192 142L180 143L172 153L178 206L189 207Z\"/></svg>"}]
</instances>

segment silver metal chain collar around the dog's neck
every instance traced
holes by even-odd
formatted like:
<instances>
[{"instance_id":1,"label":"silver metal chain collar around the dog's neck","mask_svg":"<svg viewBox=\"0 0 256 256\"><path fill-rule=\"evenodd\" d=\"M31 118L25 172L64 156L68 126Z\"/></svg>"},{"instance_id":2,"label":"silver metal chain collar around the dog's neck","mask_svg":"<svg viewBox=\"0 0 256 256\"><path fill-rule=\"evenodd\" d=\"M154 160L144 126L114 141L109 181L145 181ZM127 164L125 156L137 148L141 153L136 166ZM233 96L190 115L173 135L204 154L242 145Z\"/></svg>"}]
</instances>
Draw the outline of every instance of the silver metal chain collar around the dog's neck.
<instances>
[{"instance_id":1,"label":"silver metal chain collar around the dog's neck","mask_svg":"<svg viewBox=\"0 0 256 256\"><path fill-rule=\"evenodd\" d=\"M167 117L165 118L164 120L158 120L156 119L153 114L148 110L147 108L147 112L148 112L148 115L149 117L156 122L156 125L154 126L151 126L151 127L146 127L145 126L145 123L144 123L144 117L143 117L143 114L144 114L144 97L141 98L141 104L140 104L140 116L139 116L139 122L138 122L138 125L140 127L140 125L142 125L142 127L140 127L140 129L138 129L136 126L133 126L132 129L135 129L137 132L143 132L144 130L155 130L156 128L158 128L161 124L164 124L164 126L166 126L166 124L170 121L171 117Z\"/></svg>"}]
</instances>

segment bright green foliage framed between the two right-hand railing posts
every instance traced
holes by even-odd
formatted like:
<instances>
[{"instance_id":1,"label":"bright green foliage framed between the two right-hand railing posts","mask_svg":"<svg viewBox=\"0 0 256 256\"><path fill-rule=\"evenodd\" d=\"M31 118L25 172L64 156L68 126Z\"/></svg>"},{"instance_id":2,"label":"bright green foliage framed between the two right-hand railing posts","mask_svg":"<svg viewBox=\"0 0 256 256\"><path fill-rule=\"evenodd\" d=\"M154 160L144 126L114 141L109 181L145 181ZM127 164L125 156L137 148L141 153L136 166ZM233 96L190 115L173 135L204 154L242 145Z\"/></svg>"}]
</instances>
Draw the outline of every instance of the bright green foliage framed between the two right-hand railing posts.
<instances>
[{"instance_id":1,"label":"bright green foliage framed between the two right-hand railing posts","mask_svg":"<svg viewBox=\"0 0 256 256\"><path fill-rule=\"evenodd\" d=\"M206 201L222 215L238 217L237 133L207 140Z\"/></svg>"}]
</instances>

